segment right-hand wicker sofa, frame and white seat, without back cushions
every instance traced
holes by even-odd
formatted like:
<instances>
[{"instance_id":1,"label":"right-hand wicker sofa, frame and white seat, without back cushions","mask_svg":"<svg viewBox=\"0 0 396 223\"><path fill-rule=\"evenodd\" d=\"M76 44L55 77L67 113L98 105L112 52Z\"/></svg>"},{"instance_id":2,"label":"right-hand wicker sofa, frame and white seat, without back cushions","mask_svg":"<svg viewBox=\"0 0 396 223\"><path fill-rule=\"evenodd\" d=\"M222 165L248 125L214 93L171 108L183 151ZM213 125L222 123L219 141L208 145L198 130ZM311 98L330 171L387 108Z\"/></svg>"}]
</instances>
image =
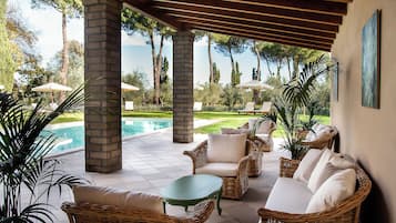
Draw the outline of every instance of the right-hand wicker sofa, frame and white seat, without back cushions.
<instances>
[{"instance_id":1,"label":"right-hand wicker sofa, frame and white seat, without back cushions","mask_svg":"<svg viewBox=\"0 0 396 223\"><path fill-rule=\"evenodd\" d=\"M281 158L281 172L280 172L280 179L286 180L286 181L294 181L293 175L296 172L298 165L301 164L302 161L298 160L288 160ZM321 212L305 212L305 213L292 213L292 212L284 212L276 210L274 207L268 207L268 202L265 205L265 207L261 207L257 212L261 217L261 222L271 222L271 223L357 223L359 222L359 211L361 211L361 205L362 202L366 199L368 195L370 187L372 187L372 182L367 174L359 168L357 164L355 166L356 171L356 186L352 189L352 195L348 196L347 199L341 201L339 203L336 203L336 205L333 205L324 211ZM280 181L280 179L277 181ZM301 186L301 184L296 184ZM323 184L322 184L323 185ZM273 191L276 191L277 183L275 183L275 186L273 187L268 200L274 199L271 197L273 194ZM325 187L325 186L324 186ZM319 187L321 189L321 187ZM280 194L278 197L282 201L281 204L277 205L284 205L284 206L291 206L291 203L294 203L294 201L291 201L291 196L299 196L299 201L297 203L302 202L301 200L301 194L297 191L292 191L293 195L290 194L290 191L287 191L285 187L282 189L282 193ZM280 190L278 190L280 191ZM323 191L323 190L322 190ZM290 194L291 196L288 196ZM295 199L295 197L294 197ZM282 203L283 202L283 203ZM304 202L303 202L304 203ZM270 204L270 206L273 206L273 204ZM309 205L308 205L309 206ZM301 209L301 205L296 209Z\"/></svg>"}]
</instances>

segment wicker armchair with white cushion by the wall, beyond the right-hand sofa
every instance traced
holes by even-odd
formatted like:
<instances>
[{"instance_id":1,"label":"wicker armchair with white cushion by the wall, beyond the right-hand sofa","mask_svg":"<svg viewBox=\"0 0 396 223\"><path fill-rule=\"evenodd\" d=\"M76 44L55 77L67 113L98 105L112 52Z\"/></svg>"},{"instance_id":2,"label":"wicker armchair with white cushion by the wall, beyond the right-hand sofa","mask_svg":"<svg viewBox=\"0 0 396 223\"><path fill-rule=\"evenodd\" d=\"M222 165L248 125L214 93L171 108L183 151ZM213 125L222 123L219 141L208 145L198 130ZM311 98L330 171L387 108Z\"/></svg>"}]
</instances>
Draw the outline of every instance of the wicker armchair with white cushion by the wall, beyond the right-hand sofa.
<instances>
[{"instance_id":1,"label":"wicker armchair with white cushion by the wall, beyond the right-hand sofa","mask_svg":"<svg viewBox=\"0 0 396 223\"><path fill-rule=\"evenodd\" d=\"M315 149L332 149L334 139L338 134L336 126L316 124L313 128L314 132L308 132L303 140L303 145L308 145Z\"/></svg>"}]
</instances>

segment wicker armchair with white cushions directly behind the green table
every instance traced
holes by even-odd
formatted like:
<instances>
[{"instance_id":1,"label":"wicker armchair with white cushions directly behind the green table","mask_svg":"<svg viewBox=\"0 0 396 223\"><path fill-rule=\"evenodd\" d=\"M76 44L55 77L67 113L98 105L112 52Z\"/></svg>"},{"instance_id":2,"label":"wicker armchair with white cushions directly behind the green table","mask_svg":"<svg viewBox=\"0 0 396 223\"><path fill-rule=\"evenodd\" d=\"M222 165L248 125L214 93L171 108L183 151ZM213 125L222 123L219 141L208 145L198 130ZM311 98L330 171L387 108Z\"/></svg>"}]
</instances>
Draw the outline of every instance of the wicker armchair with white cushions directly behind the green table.
<instances>
[{"instance_id":1,"label":"wicker armchair with white cushions directly behind the green table","mask_svg":"<svg viewBox=\"0 0 396 223\"><path fill-rule=\"evenodd\" d=\"M211 151L209 151L209 141L213 135L224 138L224 143L229 143L229 145L221 146L220 149L224 149L224 152L220 155L227 155L231 153L235 153L234 150L231 149L233 146L233 142L230 140L235 135L244 135L244 146L243 154L240 153L240 158L234 161L211 161ZM246 151L254 150L255 145L246 140L246 134L210 134L209 140L200 143L192 151L184 151L184 155L187 155L192 160L192 172L195 173L205 173L221 176L223 179L223 187L222 187L222 197L226 199L241 199L243 194L248 189L248 175L247 175L247 165L251 156ZM227 153L227 154L226 154Z\"/></svg>"}]
</instances>

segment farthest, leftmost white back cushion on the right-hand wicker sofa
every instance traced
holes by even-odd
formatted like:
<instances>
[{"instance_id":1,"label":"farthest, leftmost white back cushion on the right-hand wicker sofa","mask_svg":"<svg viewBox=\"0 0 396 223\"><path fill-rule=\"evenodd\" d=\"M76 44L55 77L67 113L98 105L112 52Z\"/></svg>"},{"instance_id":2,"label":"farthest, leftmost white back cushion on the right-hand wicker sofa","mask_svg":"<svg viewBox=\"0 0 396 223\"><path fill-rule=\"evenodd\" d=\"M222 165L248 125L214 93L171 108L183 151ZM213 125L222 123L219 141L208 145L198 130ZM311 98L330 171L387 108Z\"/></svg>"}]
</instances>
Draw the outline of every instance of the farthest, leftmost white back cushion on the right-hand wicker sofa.
<instances>
[{"instance_id":1,"label":"farthest, leftmost white back cushion on the right-hand wicker sofa","mask_svg":"<svg viewBox=\"0 0 396 223\"><path fill-rule=\"evenodd\" d=\"M322 152L323 152L322 150L316 150L316 149L308 150L308 152L301 161L296 172L294 172L293 179L304 183L308 183L311 174L314 171L321 158Z\"/></svg>"}]
</instances>

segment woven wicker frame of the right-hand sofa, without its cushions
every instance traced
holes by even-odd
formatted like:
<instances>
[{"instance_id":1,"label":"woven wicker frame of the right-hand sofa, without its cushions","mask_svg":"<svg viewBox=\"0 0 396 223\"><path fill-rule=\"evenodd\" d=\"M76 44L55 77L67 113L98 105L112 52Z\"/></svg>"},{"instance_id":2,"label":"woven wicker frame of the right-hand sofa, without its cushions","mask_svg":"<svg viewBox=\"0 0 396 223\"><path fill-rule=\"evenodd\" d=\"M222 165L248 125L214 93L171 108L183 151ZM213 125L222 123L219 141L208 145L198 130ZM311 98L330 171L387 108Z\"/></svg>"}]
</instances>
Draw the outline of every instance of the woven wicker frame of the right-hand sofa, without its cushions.
<instances>
[{"instance_id":1,"label":"woven wicker frame of the right-hand sofa, without its cushions","mask_svg":"<svg viewBox=\"0 0 396 223\"><path fill-rule=\"evenodd\" d=\"M299 161L281 158L281 178L292 178ZM284 212L260 209L258 215L262 222L271 223L357 223L362 202L366 199L372 187L372 181L362 168L356 169L356 191L354 195L343 201L331 210L309 213L291 214Z\"/></svg>"}]
</instances>

